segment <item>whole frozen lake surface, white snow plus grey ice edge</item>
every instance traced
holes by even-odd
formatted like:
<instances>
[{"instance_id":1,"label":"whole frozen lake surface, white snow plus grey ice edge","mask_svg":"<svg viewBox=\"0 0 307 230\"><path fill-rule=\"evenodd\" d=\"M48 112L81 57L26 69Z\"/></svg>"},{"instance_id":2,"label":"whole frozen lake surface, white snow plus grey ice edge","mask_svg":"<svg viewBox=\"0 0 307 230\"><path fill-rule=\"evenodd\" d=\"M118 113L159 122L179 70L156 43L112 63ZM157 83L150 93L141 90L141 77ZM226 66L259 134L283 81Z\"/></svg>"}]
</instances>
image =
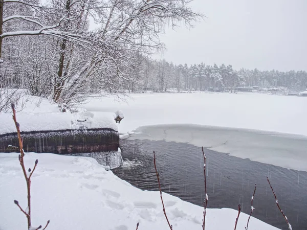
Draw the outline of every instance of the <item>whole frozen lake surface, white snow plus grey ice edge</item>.
<instances>
[{"instance_id":1,"label":"whole frozen lake surface, white snow plus grey ice edge","mask_svg":"<svg viewBox=\"0 0 307 230\"><path fill-rule=\"evenodd\" d=\"M122 138L190 143L261 163L307 171L305 97L196 93L132 94L131 97L126 102L94 99L84 107L89 111L121 109L125 114L118 125ZM137 129L158 124L179 125ZM131 131L137 135L131 135Z\"/></svg>"}]
</instances>

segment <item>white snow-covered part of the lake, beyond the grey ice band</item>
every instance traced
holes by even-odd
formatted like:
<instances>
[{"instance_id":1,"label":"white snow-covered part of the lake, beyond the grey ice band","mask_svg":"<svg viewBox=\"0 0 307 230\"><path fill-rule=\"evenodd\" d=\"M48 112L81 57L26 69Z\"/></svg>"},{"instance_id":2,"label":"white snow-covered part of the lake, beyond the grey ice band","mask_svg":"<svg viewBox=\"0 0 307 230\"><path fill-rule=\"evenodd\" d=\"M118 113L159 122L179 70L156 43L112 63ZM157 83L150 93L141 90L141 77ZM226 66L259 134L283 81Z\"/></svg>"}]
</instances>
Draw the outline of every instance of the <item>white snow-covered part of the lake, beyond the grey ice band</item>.
<instances>
[{"instance_id":1,"label":"white snow-covered part of the lake, beyond the grey ice band","mask_svg":"<svg viewBox=\"0 0 307 230\"><path fill-rule=\"evenodd\" d=\"M122 110L119 131L158 124L198 124L307 135L307 97L266 94L129 94L92 99L88 111Z\"/></svg>"}]
</instances>

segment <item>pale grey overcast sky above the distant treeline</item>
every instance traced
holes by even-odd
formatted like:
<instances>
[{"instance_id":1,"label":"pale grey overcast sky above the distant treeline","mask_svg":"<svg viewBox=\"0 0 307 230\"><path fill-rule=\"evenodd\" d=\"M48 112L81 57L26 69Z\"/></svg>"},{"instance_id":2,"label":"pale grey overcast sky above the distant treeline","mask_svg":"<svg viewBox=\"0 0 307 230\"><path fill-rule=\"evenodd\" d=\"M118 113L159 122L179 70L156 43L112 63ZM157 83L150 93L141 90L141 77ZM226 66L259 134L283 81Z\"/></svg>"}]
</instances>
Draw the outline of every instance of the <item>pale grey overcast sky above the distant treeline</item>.
<instances>
[{"instance_id":1,"label":"pale grey overcast sky above the distant treeline","mask_svg":"<svg viewBox=\"0 0 307 230\"><path fill-rule=\"evenodd\" d=\"M175 64L231 64L259 70L307 71L307 0L194 0L207 18L188 30L166 29Z\"/></svg>"}]
</instances>

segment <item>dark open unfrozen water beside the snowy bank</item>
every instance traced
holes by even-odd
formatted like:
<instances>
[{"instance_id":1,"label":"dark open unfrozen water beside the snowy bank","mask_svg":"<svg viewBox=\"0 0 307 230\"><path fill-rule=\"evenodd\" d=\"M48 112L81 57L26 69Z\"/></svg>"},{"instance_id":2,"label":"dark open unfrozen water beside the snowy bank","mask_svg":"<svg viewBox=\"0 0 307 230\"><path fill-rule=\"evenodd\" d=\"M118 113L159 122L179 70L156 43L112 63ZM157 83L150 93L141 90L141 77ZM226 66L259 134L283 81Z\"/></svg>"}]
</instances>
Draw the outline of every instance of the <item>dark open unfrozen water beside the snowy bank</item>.
<instances>
[{"instance_id":1,"label":"dark open unfrozen water beside the snowy bank","mask_svg":"<svg viewBox=\"0 0 307 230\"><path fill-rule=\"evenodd\" d=\"M152 151L157 156L162 190L188 202L204 200L203 156L201 148L189 144L121 140L126 167L114 169L120 178L143 190L158 190ZM277 211L266 176L269 176L278 202L293 229L307 229L307 172L252 162L205 150L207 155L208 208L237 209L249 213L254 184L257 190L253 216L280 229L288 229ZM130 166L130 167L128 167Z\"/></svg>"}]
</instances>

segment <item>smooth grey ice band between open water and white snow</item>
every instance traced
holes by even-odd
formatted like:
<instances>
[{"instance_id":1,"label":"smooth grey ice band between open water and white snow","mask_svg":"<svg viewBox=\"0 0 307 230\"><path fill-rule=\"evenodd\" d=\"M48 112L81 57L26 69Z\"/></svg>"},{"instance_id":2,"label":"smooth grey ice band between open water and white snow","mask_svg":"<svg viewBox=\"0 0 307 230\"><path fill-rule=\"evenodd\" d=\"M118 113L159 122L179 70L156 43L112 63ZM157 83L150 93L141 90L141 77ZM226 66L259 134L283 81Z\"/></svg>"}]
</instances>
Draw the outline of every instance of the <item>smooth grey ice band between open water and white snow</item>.
<instances>
[{"instance_id":1,"label":"smooth grey ice band between open water and white snow","mask_svg":"<svg viewBox=\"0 0 307 230\"><path fill-rule=\"evenodd\" d=\"M307 171L307 137L301 135L172 124L143 126L129 138L189 143L265 164Z\"/></svg>"}]
</instances>

